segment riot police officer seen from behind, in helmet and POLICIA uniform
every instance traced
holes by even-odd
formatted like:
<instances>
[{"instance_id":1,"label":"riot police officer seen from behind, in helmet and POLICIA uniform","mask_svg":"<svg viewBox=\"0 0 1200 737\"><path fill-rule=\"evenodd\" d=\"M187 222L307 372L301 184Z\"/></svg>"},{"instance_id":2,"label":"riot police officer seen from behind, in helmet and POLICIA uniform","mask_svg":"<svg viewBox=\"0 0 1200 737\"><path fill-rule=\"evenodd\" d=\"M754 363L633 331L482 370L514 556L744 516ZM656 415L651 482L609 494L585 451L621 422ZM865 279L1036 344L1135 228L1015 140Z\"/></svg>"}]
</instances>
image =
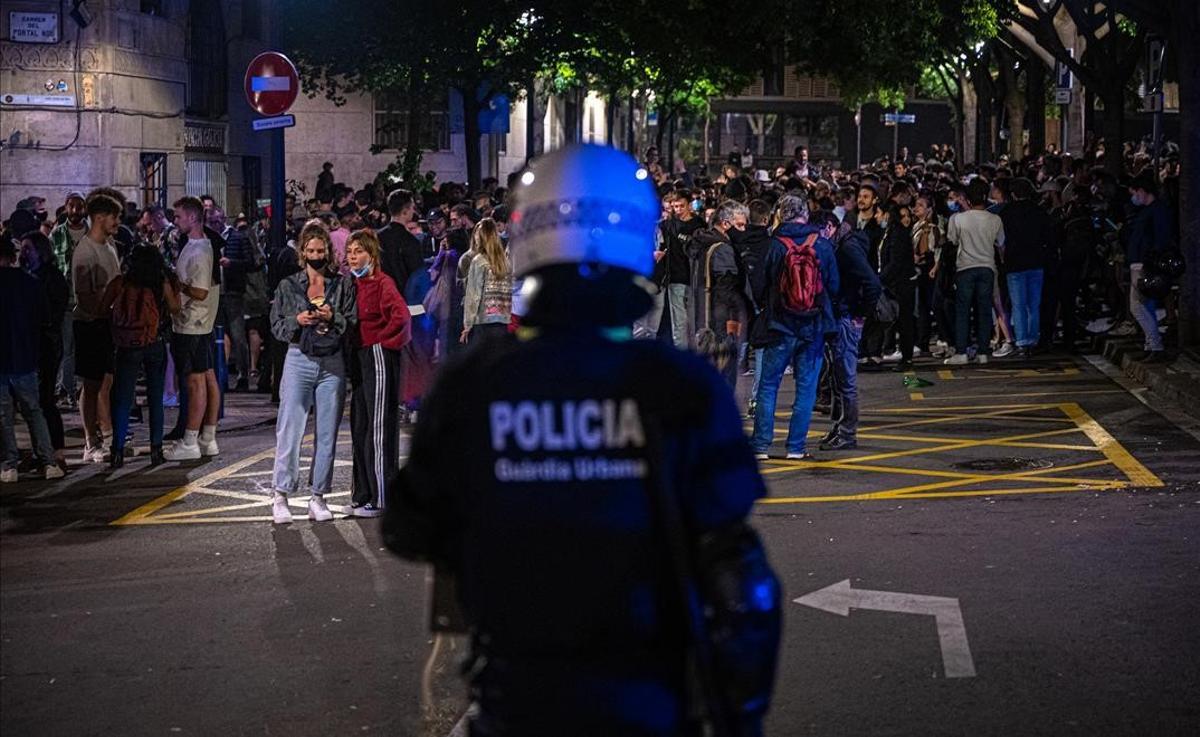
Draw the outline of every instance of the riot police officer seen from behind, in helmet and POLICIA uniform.
<instances>
[{"instance_id":1,"label":"riot police officer seen from behind, in helmet and POLICIA uniform","mask_svg":"<svg viewBox=\"0 0 1200 737\"><path fill-rule=\"evenodd\" d=\"M780 636L746 525L766 489L715 371L630 340L650 306L647 172L576 145L532 162L516 198L522 326L445 365L383 528L457 581L470 733L758 735Z\"/></svg>"}]
</instances>

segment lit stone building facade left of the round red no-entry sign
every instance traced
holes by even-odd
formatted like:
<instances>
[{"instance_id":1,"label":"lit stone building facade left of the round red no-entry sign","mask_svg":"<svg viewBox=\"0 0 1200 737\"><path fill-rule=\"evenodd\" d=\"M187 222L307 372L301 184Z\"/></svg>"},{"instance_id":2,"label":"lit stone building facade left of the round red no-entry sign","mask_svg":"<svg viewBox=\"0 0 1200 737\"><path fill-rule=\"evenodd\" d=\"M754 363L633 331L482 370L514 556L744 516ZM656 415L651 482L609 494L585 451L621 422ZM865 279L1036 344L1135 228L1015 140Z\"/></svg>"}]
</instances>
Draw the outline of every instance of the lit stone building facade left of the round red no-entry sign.
<instances>
[{"instance_id":1,"label":"lit stone building facade left of the round red no-entry sign","mask_svg":"<svg viewBox=\"0 0 1200 737\"><path fill-rule=\"evenodd\" d=\"M0 212L101 185L139 205L209 193L230 212L266 197L269 140L250 127L242 74L266 48L271 2L85 0L84 28L71 2L6 0ZM58 14L58 41L13 41L25 13Z\"/></svg>"}]
</instances>

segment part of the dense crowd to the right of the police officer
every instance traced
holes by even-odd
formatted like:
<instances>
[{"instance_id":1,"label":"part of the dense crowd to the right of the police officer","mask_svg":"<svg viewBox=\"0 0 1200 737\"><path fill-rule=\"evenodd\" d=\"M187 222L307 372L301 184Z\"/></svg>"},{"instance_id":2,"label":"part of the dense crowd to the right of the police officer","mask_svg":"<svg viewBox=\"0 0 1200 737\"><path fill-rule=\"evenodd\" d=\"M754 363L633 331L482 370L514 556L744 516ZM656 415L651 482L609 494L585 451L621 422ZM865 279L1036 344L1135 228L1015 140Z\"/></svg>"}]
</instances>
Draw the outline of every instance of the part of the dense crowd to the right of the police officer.
<instances>
[{"instance_id":1,"label":"part of the dense crowd to the right of the police officer","mask_svg":"<svg viewBox=\"0 0 1200 737\"><path fill-rule=\"evenodd\" d=\"M762 459L785 373L786 457L805 460L815 408L830 414L822 450L857 445L859 371L1076 352L1087 329L1140 332L1141 360L1168 361L1178 161L1156 172L1145 144L1127 145L1114 176L1103 156L1098 142L1081 157L959 166L934 146L842 169L799 146L773 170L733 154L713 176L673 179L650 150L664 209L655 306L635 332L709 353L731 387L752 375Z\"/></svg>"}]
</instances>

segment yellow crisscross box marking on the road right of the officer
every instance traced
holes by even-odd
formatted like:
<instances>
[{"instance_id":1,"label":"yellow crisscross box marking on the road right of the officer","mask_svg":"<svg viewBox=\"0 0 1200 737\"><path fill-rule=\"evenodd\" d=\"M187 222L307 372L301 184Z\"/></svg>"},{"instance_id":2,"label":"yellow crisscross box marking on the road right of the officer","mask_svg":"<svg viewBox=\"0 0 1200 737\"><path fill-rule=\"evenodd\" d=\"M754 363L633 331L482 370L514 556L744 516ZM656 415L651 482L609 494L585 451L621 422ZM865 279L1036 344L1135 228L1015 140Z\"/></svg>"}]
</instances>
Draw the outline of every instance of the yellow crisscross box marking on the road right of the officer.
<instances>
[{"instance_id":1,"label":"yellow crisscross box marking on the road right of the officer","mask_svg":"<svg viewBox=\"0 0 1200 737\"><path fill-rule=\"evenodd\" d=\"M786 413L782 414L786 418ZM898 415L917 419L889 421L890 418ZM877 491L864 490L846 495L768 497L762 499L761 504L977 497L1164 486L1162 479L1141 465L1116 438L1074 402L976 406L929 406L922 402L912 408L864 411L863 417L870 418L874 423L860 426L858 433L859 441L876 439L911 443L912 447L901 450L881 450L865 455L839 455L836 460L829 461L766 461L762 466L762 474L764 477L773 477L808 469L832 469L865 474L923 477L934 480L910 486L889 487ZM1028 432L1018 432L1001 437L954 437L953 432L942 432L937 436L920 433L901 435L894 432L902 429L910 429L908 432L913 432L916 429L924 429L932 425L946 426L954 424L988 427L996 420L1018 426L1027 424L1033 425L1033 427L1028 427ZM1052 425L1054 427L1038 430L1037 425L1042 427ZM781 437L786 435L785 423L782 429L776 427L775 436ZM810 438L820 437L821 432L810 431L809 436ZM1058 438L1066 442L1057 442ZM1000 473L955 471L944 467L925 468L913 465L923 457L940 453L988 447L1070 451L1092 457L1084 457L1079 462L1067 466ZM1097 455L1100 457L1096 457ZM899 462L904 465L893 465L896 460L900 460ZM1092 477L1090 474L1080 475L1070 473L1079 471L1094 473L1097 469L1115 471L1118 474ZM979 486L983 486L983 489L978 489Z\"/></svg>"}]
</instances>

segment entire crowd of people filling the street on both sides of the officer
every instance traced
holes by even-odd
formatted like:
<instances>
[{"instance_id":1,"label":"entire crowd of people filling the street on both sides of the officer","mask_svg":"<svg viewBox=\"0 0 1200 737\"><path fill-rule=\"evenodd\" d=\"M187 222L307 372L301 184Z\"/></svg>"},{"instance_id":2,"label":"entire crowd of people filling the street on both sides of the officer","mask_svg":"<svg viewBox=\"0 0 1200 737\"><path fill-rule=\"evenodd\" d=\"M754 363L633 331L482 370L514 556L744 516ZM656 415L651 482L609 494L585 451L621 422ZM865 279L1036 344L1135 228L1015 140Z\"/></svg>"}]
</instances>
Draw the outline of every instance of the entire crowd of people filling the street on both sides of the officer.
<instances>
[{"instance_id":1,"label":"entire crowd of people filling the street on both sides of the officer","mask_svg":"<svg viewBox=\"0 0 1200 737\"><path fill-rule=\"evenodd\" d=\"M653 306L634 336L704 353L733 389L752 376L743 399L761 457L791 373L786 455L800 460L814 408L830 415L822 450L856 447L859 371L1075 350L1097 320L1140 331L1144 359L1165 361L1159 307L1169 322L1182 269L1177 161L1148 161L1127 146L1118 178L1097 151L959 166L934 146L851 169L800 146L770 170L737 155L671 174L650 149L642 166L662 212ZM326 166L317 197L286 200L281 244L269 211L230 221L210 196L139 209L102 187L53 212L22 200L0 238L4 480L22 465L14 409L34 447L24 467L53 479L67 469L62 412L82 415L82 460L119 468L142 379L150 463L191 461L220 454L222 394L258 391L280 405L276 519L300 491L310 413L310 516L328 519L349 391L354 437L371 438L355 443L353 509L379 514L400 426L436 366L520 322L508 251L518 175L418 194L354 190ZM167 406L179 407L169 432Z\"/></svg>"}]
</instances>

